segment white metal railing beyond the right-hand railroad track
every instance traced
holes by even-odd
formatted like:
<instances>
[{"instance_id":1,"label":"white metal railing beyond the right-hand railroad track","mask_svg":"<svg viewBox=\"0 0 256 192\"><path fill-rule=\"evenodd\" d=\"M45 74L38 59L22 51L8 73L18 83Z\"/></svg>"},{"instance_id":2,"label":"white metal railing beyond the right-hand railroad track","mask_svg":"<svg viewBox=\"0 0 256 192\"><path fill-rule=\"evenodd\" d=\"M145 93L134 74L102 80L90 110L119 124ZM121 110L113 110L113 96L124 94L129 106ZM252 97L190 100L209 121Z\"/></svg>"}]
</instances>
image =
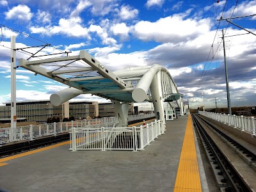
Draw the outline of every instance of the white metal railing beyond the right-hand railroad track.
<instances>
[{"instance_id":1,"label":"white metal railing beyond the right-hand railroad track","mask_svg":"<svg viewBox=\"0 0 256 192\"><path fill-rule=\"evenodd\" d=\"M224 124L228 124L233 127L237 127L242 131L252 132L255 135L255 127L256 122L254 116L246 117L246 116L236 116L236 115L229 115L229 114L221 114L221 113L211 113L206 111L199 111L200 115L207 116L216 120L218 122L222 122Z\"/></svg>"}]
</instances>

